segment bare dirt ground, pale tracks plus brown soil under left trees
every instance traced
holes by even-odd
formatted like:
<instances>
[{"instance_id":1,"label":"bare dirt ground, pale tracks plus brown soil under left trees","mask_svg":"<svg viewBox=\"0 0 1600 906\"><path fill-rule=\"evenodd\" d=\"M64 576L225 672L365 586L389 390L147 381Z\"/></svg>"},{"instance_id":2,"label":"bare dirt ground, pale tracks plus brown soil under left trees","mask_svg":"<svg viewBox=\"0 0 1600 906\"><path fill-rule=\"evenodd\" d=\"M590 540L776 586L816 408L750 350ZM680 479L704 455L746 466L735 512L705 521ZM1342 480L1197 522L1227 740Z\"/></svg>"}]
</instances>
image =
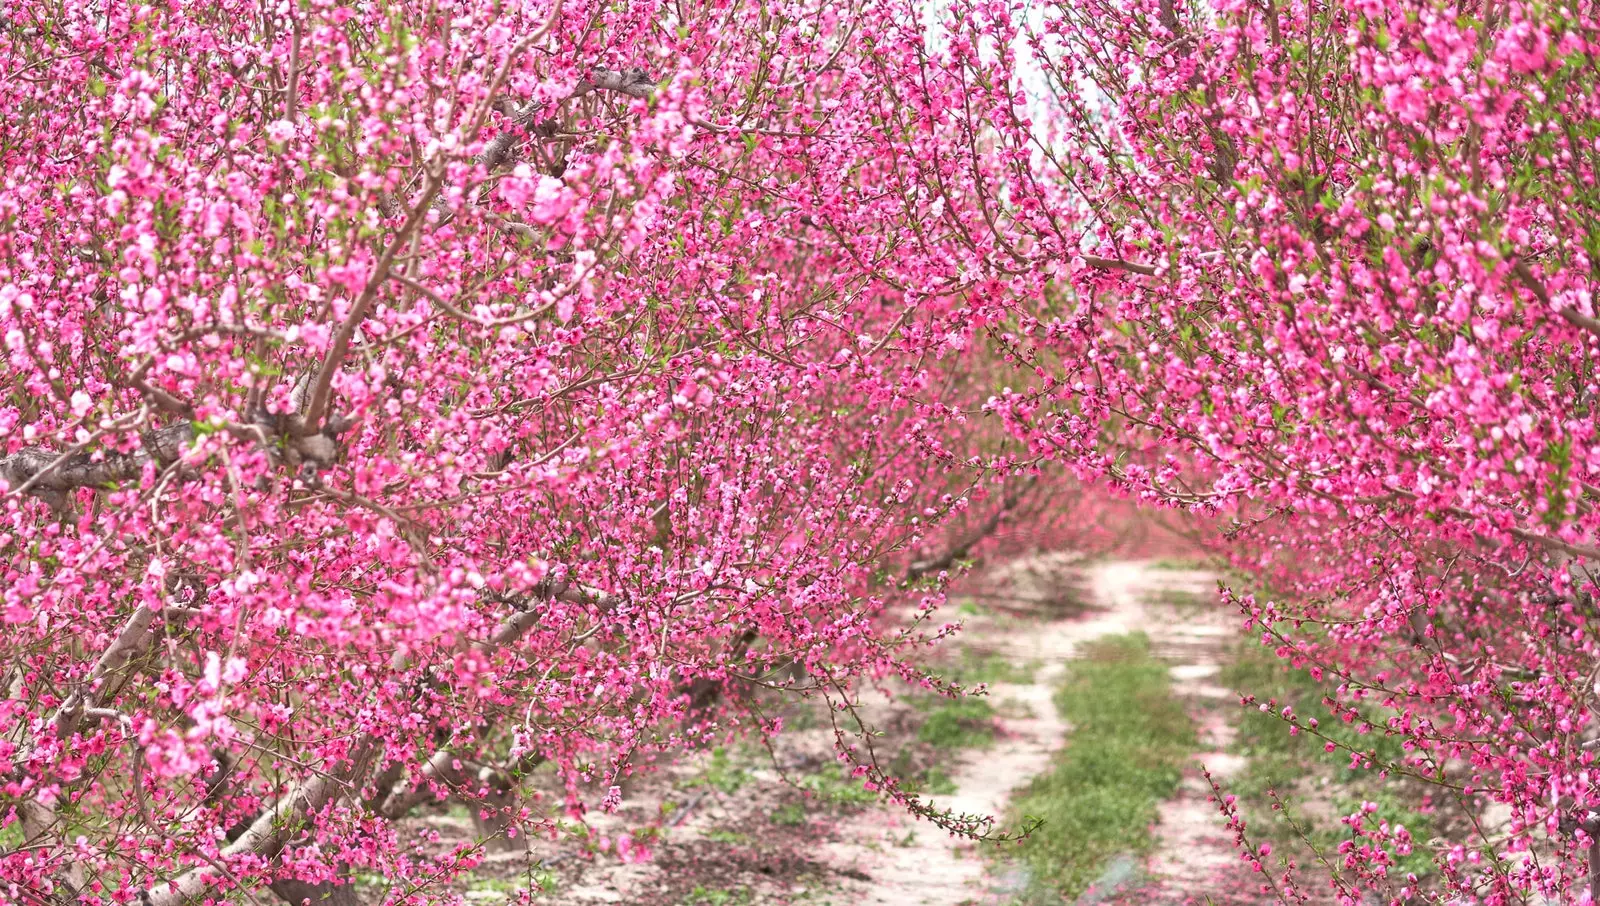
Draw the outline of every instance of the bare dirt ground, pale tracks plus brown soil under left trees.
<instances>
[{"instance_id":1,"label":"bare dirt ground, pale tracks plus brown soil under left trees","mask_svg":"<svg viewBox=\"0 0 1600 906\"><path fill-rule=\"evenodd\" d=\"M957 648L1035 669L1006 674L1018 682L990 684L998 716L990 746L936 756L954 786L933 796L941 808L1003 816L1013 791L1048 770L1070 732L1051 701L1067 664L1085 642L1136 631L1173 664L1173 688L1190 704L1210 749L1200 760L1224 776L1240 767L1226 752L1230 693L1218 685L1232 626L1208 603L1211 576L1149 562L1083 565L1056 554L1014 562L989 579L994 587L973 589L987 607L968 621ZM955 599L958 607L962 595ZM915 743L917 724L904 722L912 708L883 700L867 711L880 727L898 725L894 740ZM830 740L826 727L795 727L779 741L779 760L816 781L832 762ZM835 783L835 792L861 792ZM1197 762L1160 808L1154 858L1112 860L1096 888L1131 885L1142 901L1163 906L1213 895L1216 879L1238 860L1208 792ZM627 864L608 855L610 840L662 824L664 815L674 818L661 828L651 860ZM805 805L747 752L730 752L720 767L709 759L664 767L629 791L622 812L590 815L589 824L598 853L573 840L518 840L491 852L466 880L467 900L498 906L538 884L547 885L539 901L552 906L1006 906L1027 887L1021 869L995 869L973 844L898 808ZM472 836L464 812L437 810L416 826L437 834L440 847ZM1098 901L1091 892L1080 906Z\"/></svg>"}]
</instances>

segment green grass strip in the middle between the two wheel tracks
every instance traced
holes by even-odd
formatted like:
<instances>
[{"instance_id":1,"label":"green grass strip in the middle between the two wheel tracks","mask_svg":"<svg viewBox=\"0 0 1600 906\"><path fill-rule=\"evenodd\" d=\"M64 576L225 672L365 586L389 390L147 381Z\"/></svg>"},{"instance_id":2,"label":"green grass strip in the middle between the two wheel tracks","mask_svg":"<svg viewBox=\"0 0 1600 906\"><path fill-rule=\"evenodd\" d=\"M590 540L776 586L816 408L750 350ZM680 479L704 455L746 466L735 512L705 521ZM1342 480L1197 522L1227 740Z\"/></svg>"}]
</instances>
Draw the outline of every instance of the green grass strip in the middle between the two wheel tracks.
<instances>
[{"instance_id":1,"label":"green grass strip in the middle between the two wheel tracks","mask_svg":"<svg viewBox=\"0 0 1600 906\"><path fill-rule=\"evenodd\" d=\"M1197 740L1142 632L1088 645L1056 708L1072 735L1018 800L1019 816L1043 826L1016 852L1035 885L1072 900L1110 856L1149 852L1157 807L1178 789Z\"/></svg>"}]
</instances>

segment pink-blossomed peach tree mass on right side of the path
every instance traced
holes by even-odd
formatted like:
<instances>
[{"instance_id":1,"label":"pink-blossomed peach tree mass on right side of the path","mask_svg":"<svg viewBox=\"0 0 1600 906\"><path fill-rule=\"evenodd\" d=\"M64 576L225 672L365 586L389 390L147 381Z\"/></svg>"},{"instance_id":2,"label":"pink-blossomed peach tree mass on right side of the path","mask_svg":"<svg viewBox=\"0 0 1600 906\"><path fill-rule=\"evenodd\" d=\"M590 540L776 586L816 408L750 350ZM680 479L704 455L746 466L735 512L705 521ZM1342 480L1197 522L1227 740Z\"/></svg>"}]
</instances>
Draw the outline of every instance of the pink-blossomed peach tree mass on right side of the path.
<instances>
[{"instance_id":1,"label":"pink-blossomed peach tree mass on right side of the path","mask_svg":"<svg viewBox=\"0 0 1600 906\"><path fill-rule=\"evenodd\" d=\"M952 22L950 115L990 123L971 155L1003 165L966 194L995 200L989 266L1018 275L984 331L1032 370L990 411L1230 525L1259 579L1227 589L1246 627L1403 757L1325 744L1459 807L1437 840L1349 815L1336 893L1600 896L1595 8L1056 0ZM1394 868L1413 848L1427 887Z\"/></svg>"}]
</instances>

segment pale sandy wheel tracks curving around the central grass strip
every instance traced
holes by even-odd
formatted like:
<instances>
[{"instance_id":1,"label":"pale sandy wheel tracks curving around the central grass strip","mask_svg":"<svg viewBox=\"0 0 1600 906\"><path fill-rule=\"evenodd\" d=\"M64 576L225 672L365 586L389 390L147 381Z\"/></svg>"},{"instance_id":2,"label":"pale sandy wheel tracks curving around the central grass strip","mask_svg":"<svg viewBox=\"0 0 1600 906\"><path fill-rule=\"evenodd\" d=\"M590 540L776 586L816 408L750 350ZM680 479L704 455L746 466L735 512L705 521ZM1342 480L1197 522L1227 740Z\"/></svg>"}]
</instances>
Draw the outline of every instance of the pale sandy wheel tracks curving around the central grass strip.
<instances>
[{"instance_id":1,"label":"pale sandy wheel tracks curving around the central grass strip","mask_svg":"<svg viewBox=\"0 0 1600 906\"><path fill-rule=\"evenodd\" d=\"M1050 579L1038 575L1051 571L1019 576L1014 597L1046 597L1048 589L1038 586ZM1200 719L1206 752L1197 765L1205 764L1221 776L1240 768L1242 759L1226 752L1232 727L1226 708L1218 708L1232 698L1216 684L1230 632L1227 621L1214 607L1181 608L1152 600L1163 594L1205 600L1203 595L1214 592L1211 576L1123 560L1091 565L1085 575L1091 603L1086 613L1010 627L978 621L963 635L966 645L981 645L1013 663L1037 663L1040 669L1030 684L990 687L994 701L1022 703L1027 716L1002 717L994 748L963 756L952 772L957 792L939 797L941 805L1003 815L1011 791L1048 768L1050 754L1069 732L1051 703L1066 664L1085 642L1136 631L1146 632L1155 653L1173 664L1173 688ZM1198 767L1187 772L1178 797L1160 808L1155 856L1144 871L1133 860L1109 866L1106 887L1146 877L1162 901L1181 903L1210 893L1218 874L1237 864L1237 855L1221 832L1208 794ZM1018 874L987 874L973 844L939 834L926 823L877 810L840 828L838 839L824 847L822 860L866 874L870 880L858 882L853 895L843 895L842 901L874 906L1003 904L1026 885L1026 877Z\"/></svg>"}]
</instances>

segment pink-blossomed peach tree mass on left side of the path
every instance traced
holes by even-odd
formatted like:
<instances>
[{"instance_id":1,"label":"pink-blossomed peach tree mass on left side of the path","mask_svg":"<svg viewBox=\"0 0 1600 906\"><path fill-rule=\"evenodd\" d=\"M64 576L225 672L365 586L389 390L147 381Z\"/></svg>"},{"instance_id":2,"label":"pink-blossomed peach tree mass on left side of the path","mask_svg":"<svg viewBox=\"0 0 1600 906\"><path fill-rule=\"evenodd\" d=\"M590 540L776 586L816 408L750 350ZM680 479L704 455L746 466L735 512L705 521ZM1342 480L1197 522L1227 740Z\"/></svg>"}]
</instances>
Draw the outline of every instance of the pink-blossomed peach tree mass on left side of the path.
<instances>
[{"instance_id":1,"label":"pink-blossomed peach tree mass on left side of the path","mask_svg":"<svg viewBox=\"0 0 1600 906\"><path fill-rule=\"evenodd\" d=\"M438 901L419 804L611 808L762 688L992 832L853 717L1061 487L869 6L0 13L0 898Z\"/></svg>"}]
</instances>

